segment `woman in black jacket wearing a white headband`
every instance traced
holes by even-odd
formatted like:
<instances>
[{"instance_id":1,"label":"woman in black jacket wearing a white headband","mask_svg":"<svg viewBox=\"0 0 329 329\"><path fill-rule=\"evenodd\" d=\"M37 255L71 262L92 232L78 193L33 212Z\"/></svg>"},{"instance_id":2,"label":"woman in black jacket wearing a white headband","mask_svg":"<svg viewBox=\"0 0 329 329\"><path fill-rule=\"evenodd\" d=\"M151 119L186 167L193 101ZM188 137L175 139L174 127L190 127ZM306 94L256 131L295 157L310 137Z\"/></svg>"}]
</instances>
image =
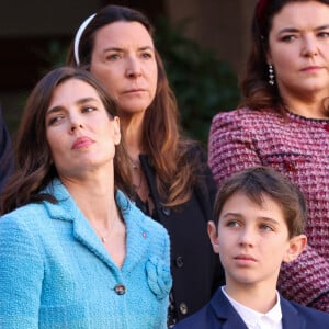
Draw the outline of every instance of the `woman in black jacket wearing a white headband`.
<instances>
[{"instance_id":1,"label":"woman in black jacket wearing a white headband","mask_svg":"<svg viewBox=\"0 0 329 329\"><path fill-rule=\"evenodd\" d=\"M144 14L101 9L78 30L68 64L90 70L116 101L131 159L127 192L169 231L171 326L206 304L224 280L206 230L216 192L206 159L180 134L175 98Z\"/></svg>"}]
</instances>

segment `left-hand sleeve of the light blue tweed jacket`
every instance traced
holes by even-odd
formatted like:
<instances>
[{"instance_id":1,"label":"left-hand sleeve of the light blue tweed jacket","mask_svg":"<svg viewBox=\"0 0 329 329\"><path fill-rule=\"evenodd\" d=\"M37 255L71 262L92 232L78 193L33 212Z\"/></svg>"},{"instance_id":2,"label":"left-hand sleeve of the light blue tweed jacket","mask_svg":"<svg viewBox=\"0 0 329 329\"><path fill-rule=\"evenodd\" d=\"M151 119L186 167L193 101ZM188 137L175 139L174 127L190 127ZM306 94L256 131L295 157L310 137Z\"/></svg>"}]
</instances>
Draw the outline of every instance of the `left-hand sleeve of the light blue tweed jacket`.
<instances>
[{"instance_id":1,"label":"left-hand sleeve of the light blue tweed jacket","mask_svg":"<svg viewBox=\"0 0 329 329\"><path fill-rule=\"evenodd\" d=\"M31 228L33 229L33 228ZM38 328L44 262L31 230L0 218L0 328Z\"/></svg>"}]
</instances>

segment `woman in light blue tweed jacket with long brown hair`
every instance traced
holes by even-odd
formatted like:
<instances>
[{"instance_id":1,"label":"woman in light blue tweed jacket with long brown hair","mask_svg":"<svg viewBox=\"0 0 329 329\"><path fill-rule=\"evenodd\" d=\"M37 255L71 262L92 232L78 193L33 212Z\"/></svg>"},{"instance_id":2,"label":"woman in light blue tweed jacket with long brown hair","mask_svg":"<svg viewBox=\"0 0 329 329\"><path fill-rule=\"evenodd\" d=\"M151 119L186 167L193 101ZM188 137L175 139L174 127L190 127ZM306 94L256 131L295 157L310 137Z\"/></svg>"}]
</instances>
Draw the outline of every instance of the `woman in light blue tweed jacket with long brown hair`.
<instances>
[{"instance_id":1,"label":"woman in light blue tweed jacket with long brown hair","mask_svg":"<svg viewBox=\"0 0 329 329\"><path fill-rule=\"evenodd\" d=\"M1 200L0 328L166 328L169 238L121 190L115 106L58 68L30 95Z\"/></svg>"}]
</instances>

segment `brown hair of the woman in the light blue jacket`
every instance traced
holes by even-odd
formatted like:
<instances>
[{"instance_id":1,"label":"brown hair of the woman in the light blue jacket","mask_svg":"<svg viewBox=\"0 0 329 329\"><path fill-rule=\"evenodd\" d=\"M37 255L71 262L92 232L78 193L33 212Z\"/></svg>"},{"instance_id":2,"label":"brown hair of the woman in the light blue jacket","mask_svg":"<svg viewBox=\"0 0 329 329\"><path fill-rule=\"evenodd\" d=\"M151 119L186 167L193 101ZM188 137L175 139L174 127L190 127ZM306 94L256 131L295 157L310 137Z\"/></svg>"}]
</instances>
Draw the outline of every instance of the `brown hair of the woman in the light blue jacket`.
<instances>
[{"instance_id":1,"label":"brown hair of the woman in the light blue jacket","mask_svg":"<svg viewBox=\"0 0 329 329\"><path fill-rule=\"evenodd\" d=\"M9 180L1 195L0 214L9 213L31 202L44 200L56 202L53 195L39 193L57 177L46 139L45 120L54 90L70 79L81 80L93 87L110 118L116 116L115 103L88 71L63 67L48 72L35 86L26 101L15 143L16 172ZM116 146L114 157L115 188L127 189L125 185L128 177L127 162L124 138L122 138L121 144Z\"/></svg>"}]
</instances>

